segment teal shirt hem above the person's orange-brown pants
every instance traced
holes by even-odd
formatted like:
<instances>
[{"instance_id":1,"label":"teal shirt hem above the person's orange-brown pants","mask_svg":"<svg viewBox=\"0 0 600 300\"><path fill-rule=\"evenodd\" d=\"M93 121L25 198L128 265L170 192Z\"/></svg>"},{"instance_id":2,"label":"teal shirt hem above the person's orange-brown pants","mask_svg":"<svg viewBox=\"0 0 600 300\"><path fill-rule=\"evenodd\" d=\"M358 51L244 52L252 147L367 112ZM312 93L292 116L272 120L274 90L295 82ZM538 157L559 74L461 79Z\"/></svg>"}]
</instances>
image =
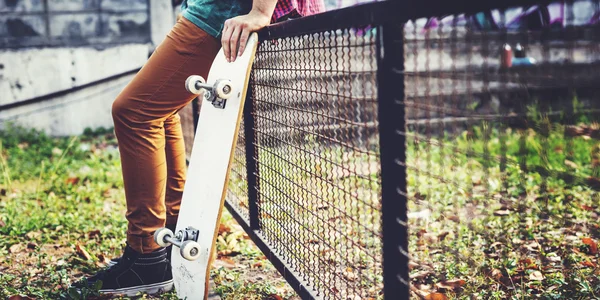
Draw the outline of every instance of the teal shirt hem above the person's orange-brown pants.
<instances>
[{"instance_id":1,"label":"teal shirt hem above the person's orange-brown pants","mask_svg":"<svg viewBox=\"0 0 600 300\"><path fill-rule=\"evenodd\" d=\"M251 0L183 0L181 15L220 39L225 21L247 14L251 8Z\"/></svg>"}]
</instances>

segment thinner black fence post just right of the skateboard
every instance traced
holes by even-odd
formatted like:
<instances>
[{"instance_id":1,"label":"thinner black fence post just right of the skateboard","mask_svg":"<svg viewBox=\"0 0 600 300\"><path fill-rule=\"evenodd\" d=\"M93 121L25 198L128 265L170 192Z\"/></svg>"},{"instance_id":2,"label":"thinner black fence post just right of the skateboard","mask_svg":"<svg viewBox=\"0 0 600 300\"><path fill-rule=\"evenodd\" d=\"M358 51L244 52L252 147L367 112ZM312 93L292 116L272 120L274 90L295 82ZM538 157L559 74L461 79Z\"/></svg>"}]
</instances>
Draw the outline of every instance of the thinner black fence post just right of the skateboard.
<instances>
[{"instance_id":1,"label":"thinner black fence post just right of the skateboard","mask_svg":"<svg viewBox=\"0 0 600 300\"><path fill-rule=\"evenodd\" d=\"M250 74L250 83L244 103L244 137L246 148L246 175L248 178L248 209L250 212L250 228L259 230L258 213L258 164L256 149L256 130L254 123L254 72Z\"/></svg>"}]
</instances>

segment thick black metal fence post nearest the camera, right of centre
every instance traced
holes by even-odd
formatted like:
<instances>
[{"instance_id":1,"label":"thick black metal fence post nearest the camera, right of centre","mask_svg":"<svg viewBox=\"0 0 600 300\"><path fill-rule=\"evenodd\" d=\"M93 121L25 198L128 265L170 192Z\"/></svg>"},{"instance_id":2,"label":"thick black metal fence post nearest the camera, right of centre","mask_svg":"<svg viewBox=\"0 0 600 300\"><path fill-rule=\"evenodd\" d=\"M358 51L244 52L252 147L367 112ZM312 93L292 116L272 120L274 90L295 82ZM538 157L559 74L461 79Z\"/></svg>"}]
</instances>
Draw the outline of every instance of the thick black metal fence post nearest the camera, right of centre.
<instances>
[{"instance_id":1,"label":"thick black metal fence post nearest the camera, right of centre","mask_svg":"<svg viewBox=\"0 0 600 300\"><path fill-rule=\"evenodd\" d=\"M408 299L403 24L378 27L377 80L385 299Z\"/></svg>"}]
</instances>

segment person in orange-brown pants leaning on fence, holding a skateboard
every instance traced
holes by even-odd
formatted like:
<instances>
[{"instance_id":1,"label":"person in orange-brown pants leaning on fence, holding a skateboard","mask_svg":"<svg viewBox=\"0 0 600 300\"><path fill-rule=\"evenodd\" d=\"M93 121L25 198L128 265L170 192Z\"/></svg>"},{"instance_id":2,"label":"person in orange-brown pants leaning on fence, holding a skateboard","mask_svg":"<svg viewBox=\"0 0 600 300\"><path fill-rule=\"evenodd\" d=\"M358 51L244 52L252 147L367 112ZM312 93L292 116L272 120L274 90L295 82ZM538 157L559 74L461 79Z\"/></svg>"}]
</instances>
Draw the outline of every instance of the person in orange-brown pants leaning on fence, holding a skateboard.
<instances>
[{"instance_id":1,"label":"person in orange-brown pants leaning on fence, holding a skateboard","mask_svg":"<svg viewBox=\"0 0 600 300\"><path fill-rule=\"evenodd\" d=\"M173 288L170 251L153 235L174 230L179 214L187 166L178 111L196 97L186 78L206 78L221 47L235 61L253 31L322 11L323 0L183 1L176 24L112 106L127 203L124 252L76 288L99 283L102 294L127 296Z\"/></svg>"}]
</instances>

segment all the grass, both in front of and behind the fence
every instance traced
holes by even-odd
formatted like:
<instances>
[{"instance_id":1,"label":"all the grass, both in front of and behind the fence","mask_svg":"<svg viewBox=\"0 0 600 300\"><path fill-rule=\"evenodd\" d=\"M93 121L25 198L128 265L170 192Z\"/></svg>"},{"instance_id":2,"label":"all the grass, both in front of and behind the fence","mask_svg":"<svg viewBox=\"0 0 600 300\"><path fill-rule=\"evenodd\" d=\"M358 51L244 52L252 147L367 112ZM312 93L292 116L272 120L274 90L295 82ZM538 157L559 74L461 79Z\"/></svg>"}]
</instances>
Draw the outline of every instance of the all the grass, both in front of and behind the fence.
<instances>
[{"instance_id":1,"label":"all the grass, both in front of and behind the fence","mask_svg":"<svg viewBox=\"0 0 600 300\"><path fill-rule=\"evenodd\" d=\"M600 144L543 115L534 119L535 130L483 123L409 139L414 296L600 297ZM114 138L55 139L18 128L1 138L0 296L66 297L74 278L101 268L124 243ZM382 298L376 144L362 152L317 141L259 149L262 234L327 296ZM245 211L239 164L231 191ZM231 216L223 218L216 292L295 297Z\"/></svg>"}]
</instances>

